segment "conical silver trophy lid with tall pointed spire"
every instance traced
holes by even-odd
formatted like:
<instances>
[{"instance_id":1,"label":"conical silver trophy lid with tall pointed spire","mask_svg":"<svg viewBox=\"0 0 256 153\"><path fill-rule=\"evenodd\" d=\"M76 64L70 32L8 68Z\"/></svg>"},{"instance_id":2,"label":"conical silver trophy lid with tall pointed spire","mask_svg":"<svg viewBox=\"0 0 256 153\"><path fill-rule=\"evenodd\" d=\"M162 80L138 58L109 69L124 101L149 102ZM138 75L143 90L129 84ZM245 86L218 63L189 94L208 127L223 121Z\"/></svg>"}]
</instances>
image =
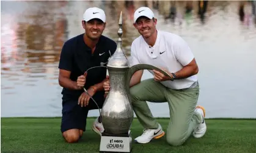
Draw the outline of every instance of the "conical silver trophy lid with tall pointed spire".
<instances>
[{"instance_id":1,"label":"conical silver trophy lid with tall pointed spire","mask_svg":"<svg viewBox=\"0 0 256 153\"><path fill-rule=\"evenodd\" d=\"M117 40L117 49L115 50L115 53L111 56L111 58L108 61L108 67L112 68L129 68L129 62L128 59L125 56L125 53L122 49L122 24L123 24L123 18L122 18L122 12L120 13L119 17L119 30L117 34L119 35L119 38Z\"/></svg>"}]
</instances>

